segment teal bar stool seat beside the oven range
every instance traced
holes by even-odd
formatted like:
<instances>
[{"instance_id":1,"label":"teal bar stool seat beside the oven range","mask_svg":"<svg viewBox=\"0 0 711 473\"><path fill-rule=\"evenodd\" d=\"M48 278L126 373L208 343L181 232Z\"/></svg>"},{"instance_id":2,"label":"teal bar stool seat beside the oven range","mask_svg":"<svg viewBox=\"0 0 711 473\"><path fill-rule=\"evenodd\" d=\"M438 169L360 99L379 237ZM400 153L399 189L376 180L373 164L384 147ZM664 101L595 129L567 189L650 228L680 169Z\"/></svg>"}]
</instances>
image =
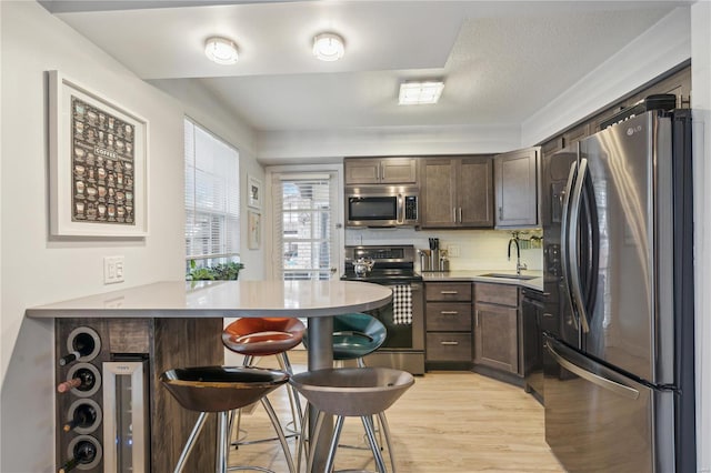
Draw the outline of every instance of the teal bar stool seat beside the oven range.
<instances>
[{"instance_id":1,"label":"teal bar stool seat beside the oven range","mask_svg":"<svg viewBox=\"0 0 711 473\"><path fill-rule=\"evenodd\" d=\"M372 315L354 312L333 316L333 360L357 360L363 368L363 358L378 350L385 341L388 330ZM304 333L303 345L309 341Z\"/></svg>"}]
</instances>

